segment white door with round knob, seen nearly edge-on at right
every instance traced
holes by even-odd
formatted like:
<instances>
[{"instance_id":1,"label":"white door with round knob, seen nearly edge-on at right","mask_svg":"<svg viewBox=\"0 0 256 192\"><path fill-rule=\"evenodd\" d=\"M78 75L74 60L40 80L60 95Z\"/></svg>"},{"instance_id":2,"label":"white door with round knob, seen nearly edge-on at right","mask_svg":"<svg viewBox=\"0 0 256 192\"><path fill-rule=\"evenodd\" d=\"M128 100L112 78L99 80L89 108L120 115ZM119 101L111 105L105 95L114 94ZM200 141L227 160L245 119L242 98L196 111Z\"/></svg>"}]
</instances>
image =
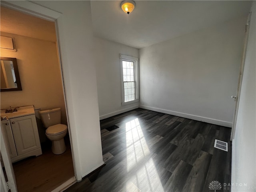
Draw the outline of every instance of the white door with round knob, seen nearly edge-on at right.
<instances>
[{"instance_id":1,"label":"white door with round knob, seen nearly edge-on at right","mask_svg":"<svg viewBox=\"0 0 256 192\"><path fill-rule=\"evenodd\" d=\"M233 115L233 122L232 122L232 129L231 129L231 135L230 135L230 141L234 139L235 131L236 131L236 120L237 120L237 112L239 108L239 101L240 101L240 94L241 94L241 85L243 80L243 74L244 74L244 62L245 62L245 56L246 56L246 50L247 50L247 44L248 44L248 37L249 37L249 30L250 30L250 20L251 20L251 14L250 12L248 14L246 26L245 26L245 34L244 34L244 45L242 50L242 58L241 58L241 64L240 64L240 71L238 75L238 86L236 90L236 96L232 96L232 98L235 99L235 109L234 109L234 115Z\"/></svg>"}]
</instances>

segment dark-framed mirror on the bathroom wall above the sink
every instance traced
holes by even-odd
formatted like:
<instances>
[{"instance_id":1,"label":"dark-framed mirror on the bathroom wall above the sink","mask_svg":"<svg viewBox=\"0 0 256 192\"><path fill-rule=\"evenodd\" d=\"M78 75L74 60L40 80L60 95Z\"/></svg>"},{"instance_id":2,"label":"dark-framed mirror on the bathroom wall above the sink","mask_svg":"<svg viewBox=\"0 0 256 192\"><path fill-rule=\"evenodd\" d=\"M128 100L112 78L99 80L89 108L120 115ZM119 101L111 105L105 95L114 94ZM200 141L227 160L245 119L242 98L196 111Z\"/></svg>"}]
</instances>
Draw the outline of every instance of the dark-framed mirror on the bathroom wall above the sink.
<instances>
[{"instance_id":1,"label":"dark-framed mirror on the bathroom wall above the sink","mask_svg":"<svg viewBox=\"0 0 256 192\"><path fill-rule=\"evenodd\" d=\"M16 58L1 57L0 91L20 91L20 75Z\"/></svg>"}]
</instances>

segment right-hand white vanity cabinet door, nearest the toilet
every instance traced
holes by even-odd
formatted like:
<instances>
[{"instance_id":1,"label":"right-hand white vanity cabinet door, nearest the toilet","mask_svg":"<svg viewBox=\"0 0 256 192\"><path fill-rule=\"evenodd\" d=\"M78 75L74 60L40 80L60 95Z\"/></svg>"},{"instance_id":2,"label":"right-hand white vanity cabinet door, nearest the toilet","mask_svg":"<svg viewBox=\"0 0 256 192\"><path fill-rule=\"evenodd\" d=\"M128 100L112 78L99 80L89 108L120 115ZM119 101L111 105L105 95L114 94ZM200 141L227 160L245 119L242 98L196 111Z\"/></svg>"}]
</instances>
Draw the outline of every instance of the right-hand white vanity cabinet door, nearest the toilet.
<instances>
[{"instance_id":1,"label":"right-hand white vanity cabinet door, nearest the toilet","mask_svg":"<svg viewBox=\"0 0 256 192\"><path fill-rule=\"evenodd\" d=\"M40 148L35 115L10 119L18 155Z\"/></svg>"}]
</instances>

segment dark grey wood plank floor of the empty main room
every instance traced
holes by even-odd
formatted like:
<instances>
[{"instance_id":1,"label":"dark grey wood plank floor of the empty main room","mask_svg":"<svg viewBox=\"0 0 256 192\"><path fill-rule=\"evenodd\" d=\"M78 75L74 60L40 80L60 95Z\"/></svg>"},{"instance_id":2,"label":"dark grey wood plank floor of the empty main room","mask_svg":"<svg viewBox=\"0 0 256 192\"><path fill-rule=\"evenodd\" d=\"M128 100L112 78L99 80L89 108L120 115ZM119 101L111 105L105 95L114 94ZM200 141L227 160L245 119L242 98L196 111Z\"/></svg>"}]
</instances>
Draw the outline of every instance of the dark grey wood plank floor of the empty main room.
<instances>
[{"instance_id":1,"label":"dark grey wood plank floor of the empty main room","mask_svg":"<svg viewBox=\"0 0 256 192\"><path fill-rule=\"evenodd\" d=\"M106 130L112 125L120 128ZM140 108L100 126L106 166L65 192L230 191L230 128ZM228 152L214 148L215 139L228 142ZM222 187L209 188L212 181Z\"/></svg>"}]
</instances>

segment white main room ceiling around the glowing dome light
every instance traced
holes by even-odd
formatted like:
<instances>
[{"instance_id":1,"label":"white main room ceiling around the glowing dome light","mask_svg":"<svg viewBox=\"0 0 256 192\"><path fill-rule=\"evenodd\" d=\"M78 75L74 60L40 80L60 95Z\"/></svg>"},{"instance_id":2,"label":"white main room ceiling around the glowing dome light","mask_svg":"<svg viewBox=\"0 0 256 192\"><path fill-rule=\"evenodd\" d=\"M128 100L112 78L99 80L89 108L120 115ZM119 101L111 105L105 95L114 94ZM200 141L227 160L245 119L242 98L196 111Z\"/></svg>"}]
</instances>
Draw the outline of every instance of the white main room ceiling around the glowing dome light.
<instances>
[{"instance_id":1,"label":"white main room ceiling around the glowing dome light","mask_svg":"<svg viewBox=\"0 0 256 192\"><path fill-rule=\"evenodd\" d=\"M91 1L94 36L143 48L220 22L247 16L251 1L135 0L124 13L122 1Z\"/></svg>"}]
</instances>

